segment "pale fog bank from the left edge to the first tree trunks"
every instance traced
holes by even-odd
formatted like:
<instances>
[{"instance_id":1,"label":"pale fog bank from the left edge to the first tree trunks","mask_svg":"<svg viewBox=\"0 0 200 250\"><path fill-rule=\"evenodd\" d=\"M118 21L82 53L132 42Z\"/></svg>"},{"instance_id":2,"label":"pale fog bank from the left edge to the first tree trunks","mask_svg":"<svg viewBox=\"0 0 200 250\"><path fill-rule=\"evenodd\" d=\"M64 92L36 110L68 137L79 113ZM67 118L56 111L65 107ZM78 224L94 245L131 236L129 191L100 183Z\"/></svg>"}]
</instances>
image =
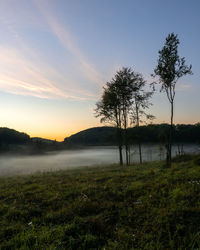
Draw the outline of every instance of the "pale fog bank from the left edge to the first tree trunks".
<instances>
[{"instance_id":1,"label":"pale fog bank from the left edge to the first tree trunks","mask_svg":"<svg viewBox=\"0 0 200 250\"><path fill-rule=\"evenodd\" d=\"M2 155L0 156L0 176L100 166L117 162L116 147L64 150L33 156Z\"/></svg>"}]
</instances>

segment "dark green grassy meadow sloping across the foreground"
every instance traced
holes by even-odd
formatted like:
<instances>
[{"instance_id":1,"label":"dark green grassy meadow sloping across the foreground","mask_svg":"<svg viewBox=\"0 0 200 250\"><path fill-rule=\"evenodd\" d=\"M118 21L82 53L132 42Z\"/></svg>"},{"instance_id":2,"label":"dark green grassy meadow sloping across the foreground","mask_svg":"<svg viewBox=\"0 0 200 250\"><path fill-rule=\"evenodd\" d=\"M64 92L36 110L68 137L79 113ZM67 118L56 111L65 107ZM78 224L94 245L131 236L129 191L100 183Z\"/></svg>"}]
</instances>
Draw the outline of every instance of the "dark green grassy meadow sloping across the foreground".
<instances>
[{"instance_id":1,"label":"dark green grassy meadow sloping across the foreground","mask_svg":"<svg viewBox=\"0 0 200 250\"><path fill-rule=\"evenodd\" d=\"M0 178L0 249L198 249L200 156Z\"/></svg>"}]
</instances>

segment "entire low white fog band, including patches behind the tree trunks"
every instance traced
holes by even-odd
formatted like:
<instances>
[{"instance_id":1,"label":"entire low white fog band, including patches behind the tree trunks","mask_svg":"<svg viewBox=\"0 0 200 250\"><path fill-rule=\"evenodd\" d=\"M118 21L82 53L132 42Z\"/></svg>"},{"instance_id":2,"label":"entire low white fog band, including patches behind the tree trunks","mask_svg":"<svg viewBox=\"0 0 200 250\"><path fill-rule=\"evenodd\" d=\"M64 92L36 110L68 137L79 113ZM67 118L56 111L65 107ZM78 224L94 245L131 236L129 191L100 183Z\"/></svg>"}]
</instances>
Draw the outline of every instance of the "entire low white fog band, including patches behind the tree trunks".
<instances>
[{"instance_id":1,"label":"entire low white fog band, including patches behind the tree trunks","mask_svg":"<svg viewBox=\"0 0 200 250\"><path fill-rule=\"evenodd\" d=\"M184 145L184 152L199 151L197 145ZM178 147L173 147L173 155ZM154 161L165 159L165 149L159 145L144 145L143 160ZM119 162L117 147L93 147L81 150L65 150L34 156L0 156L0 176L31 174L35 172L72 169L84 166L102 166ZM139 162L137 146L131 148L131 162Z\"/></svg>"}]
</instances>

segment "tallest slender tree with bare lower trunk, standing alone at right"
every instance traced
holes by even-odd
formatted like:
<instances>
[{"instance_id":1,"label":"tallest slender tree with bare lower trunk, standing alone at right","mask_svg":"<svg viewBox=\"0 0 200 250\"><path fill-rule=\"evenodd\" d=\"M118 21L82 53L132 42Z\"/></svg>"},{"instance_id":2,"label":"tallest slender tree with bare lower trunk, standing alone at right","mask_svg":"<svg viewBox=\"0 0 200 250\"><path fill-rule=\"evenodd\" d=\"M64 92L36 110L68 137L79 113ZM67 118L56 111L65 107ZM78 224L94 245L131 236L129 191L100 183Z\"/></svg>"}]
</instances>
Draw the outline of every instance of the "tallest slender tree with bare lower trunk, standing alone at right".
<instances>
[{"instance_id":1,"label":"tallest slender tree with bare lower trunk, standing alone at right","mask_svg":"<svg viewBox=\"0 0 200 250\"><path fill-rule=\"evenodd\" d=\"M184 75L192 74L192 65L185 65L185 58L178 55L179 39L177 35L171 33L167 36L165 45L159 50L158 65L154 69L154 75L159 77L161 91L167 94L171 105L170 133L167 144L167 165L171 166L172 151L172 129L174 117L175 86L178 79Z\"/></svg>"}]
</instances>

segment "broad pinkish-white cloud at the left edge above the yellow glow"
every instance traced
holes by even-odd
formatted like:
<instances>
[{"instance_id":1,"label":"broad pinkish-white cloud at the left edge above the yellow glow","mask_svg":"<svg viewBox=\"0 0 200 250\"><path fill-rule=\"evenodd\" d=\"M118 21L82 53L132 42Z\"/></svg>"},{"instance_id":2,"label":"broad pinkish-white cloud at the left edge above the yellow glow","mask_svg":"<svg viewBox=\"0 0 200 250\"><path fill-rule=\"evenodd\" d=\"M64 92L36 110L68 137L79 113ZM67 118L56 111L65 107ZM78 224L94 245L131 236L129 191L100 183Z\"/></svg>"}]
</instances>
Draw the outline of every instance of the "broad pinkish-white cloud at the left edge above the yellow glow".
<instances>
[{"instance_id":1,"label":"broad pinkish-white cloud at the left edge above the yellow glow","mask_svg":"<svg viewBox=\"0 0 200 250\"><path fill-rule=\"evenodd\" d=\"M48 74L48 76L47 76ZM49 77L50 76L50 77ZM0 89L9 93L40 98L91 99L79 89L68 91L51 82L51 76L61 77L53 69L40 63L36 66L16 49L0 47ZM49 79L50 78L50 79Z\"/></svg>"}]
</instances>

